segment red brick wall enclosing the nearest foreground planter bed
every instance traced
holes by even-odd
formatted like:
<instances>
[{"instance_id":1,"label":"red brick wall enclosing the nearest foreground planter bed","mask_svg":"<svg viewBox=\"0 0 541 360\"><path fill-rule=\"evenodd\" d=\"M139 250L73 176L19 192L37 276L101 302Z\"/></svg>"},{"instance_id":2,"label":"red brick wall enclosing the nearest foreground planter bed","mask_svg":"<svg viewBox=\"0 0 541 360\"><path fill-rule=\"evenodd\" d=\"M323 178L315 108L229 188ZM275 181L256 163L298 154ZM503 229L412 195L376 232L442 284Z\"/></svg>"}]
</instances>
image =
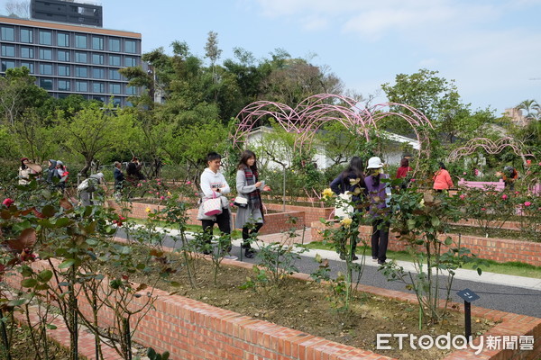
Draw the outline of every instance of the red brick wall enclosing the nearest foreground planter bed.
<instances>
[{"instance_id":1,"label":"red brick wall enclosing the nearest foreground planter bed","mask_svg":"<svg viewBox=\"0 0 541 360\"><path fill-rule=\"evenodd\" d=\"M251 264L224 260L227 265L251 268ZM57 263L58 265L58 263ZM44 269L49 265L44 261L32 264L35 269ZM295 277L307 279L308 275ZM20 275L7 276L6 281L18 287ZM142 298L134 302L142 302ZM362 291L388 296L405 302L416 302L414 294L401 293L362 285ZM158 352L169 351L171 359L194 360L384 360L380 356L355 347L344 346L325 338L318 338L298 330L281 327L264 320L255 320L247 316L215 308L203 302L197 302L179 295L169 295L155 290L158 297L153 308L142 318L133 340L145 347L153 347ZM457 304L461 307L462 305ZM91 306L84 296L79 297L79 306L89 315ZM487 350L475 355L473 349L454 351L445 360L491 359L491 360L535 360L541 355L541 319L517 315L503 311L491 311L472 306L472 315L493 321L501 321L487 335L533 336L533 350ZM113 321L111 311L101 310L99 320L102 326ZM133 320L134 325L135 320ZM54 337L54 330L50 330Z\"/></svg>"}]
</instances>

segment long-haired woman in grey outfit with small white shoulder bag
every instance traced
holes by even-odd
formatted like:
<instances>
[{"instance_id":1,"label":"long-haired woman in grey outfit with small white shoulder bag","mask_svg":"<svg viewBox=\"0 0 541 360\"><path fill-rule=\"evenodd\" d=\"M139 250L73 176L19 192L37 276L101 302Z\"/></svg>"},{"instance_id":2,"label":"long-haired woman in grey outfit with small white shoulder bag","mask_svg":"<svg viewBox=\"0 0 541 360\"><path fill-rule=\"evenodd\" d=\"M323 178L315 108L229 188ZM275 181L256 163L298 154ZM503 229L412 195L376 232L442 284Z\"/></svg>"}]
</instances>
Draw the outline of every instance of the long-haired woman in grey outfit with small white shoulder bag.
<instances>
[{"instance_id":1,"label":"long-haired woman in grey outfit with small white shoulder bag","mask_svg":"<svg viewBox=\"0 0 541 360\"><path fill-rule=\"evenodd\" d=\"M259 181L256 157L250 150L244 150L241 154L241 161L237 166L236 190L238 196L235 204L238 211L235 227L243 229L244 257L252 258L255 251L248 239L261 229L264 220L261 191L271 191L271 188Z\"/></svg>"}]
</instances>

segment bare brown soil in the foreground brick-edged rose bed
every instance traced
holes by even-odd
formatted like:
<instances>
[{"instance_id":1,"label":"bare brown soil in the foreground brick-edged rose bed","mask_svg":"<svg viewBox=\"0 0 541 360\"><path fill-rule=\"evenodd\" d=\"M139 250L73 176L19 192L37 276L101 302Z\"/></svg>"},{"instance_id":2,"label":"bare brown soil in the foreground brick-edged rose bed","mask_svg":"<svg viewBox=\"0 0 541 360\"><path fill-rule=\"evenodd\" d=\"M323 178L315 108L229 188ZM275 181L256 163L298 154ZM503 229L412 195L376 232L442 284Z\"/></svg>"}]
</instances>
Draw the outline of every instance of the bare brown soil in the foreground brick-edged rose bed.
<instances>
[{"instance_id":1,"label":"bare brown soil in the foreground brick-edged rose bed","mask_svg":"<svg viewBox=\"0 0 541 360\"><path fill-rule=\"evenodd\" d=\"M197 269L197 287L193 288L189 285L187 272L182 270L180 259L171 256L170 261L171 268L178 267L179 270L170 276L169 281L179 284L173 287L159 282L156 286L163 290L400 360L441 359L450 351L436 347L415 351L409 346L399 350L398 340L393 343L392 339L390 346L393 350L377 350L376 334L436 337L447 332L452 336L463 335L464 331L463 314L458 311L452 310L448 319L440 324L424 323L419 330L417 304L398 302L368 293L356 293L350 311L340 311L333 306L333 292L329 285L303 282L289 277L284 278L278 286L242 290L241 287L247 279L255 276L252 271L235 266L220 266L217 282L214 284L212 263L205 259L198 259L194 263ZM130 281L149 284L149 279L142 277L130 277ZM473 319L472 334L481 335L494 325L494 322L488 320Z\"/></svg>"}]
</instances>

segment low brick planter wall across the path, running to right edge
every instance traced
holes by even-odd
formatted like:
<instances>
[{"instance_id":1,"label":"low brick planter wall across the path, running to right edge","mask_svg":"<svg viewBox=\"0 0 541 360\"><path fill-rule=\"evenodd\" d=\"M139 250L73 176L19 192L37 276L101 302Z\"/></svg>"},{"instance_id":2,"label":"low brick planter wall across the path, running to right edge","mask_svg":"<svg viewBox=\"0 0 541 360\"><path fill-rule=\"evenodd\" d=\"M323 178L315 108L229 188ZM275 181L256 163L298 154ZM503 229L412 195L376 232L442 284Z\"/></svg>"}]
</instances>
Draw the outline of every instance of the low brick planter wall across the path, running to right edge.
<instances>
[{"instance_id":1,"label":"low brick planter wall across the path, running to right edge","mask_svg":"<svg viewBox=\"0 0 541 360\"><path fill-rule=\"evenodd\" d=\"M336 227L338 224L335 225ZM325 225L321 222L312 222L311 235L313 241L321 241L321 230L325 229ZM371 236L370 226L359 227L361 236L369 239ZM395 233L389 234L389 249L391 251L406 250L406 244L396 238ZM458 242L458 235L449 234L454 242ZM442 237L442 239L445 237ZM370 242L370 239L369 239ZM508 261L518 261L521 263L530 264L533 266L541 266L541 243L529 242L520 240L511 240L507 238L481 238L469 235L463 235L461 238L463 247L469 248L473 254L478 257L498 261L500 263ZM442 247L443 249L445 248ZM445 250L446 251L446 248Z\"/></svg>"}]
</instances>

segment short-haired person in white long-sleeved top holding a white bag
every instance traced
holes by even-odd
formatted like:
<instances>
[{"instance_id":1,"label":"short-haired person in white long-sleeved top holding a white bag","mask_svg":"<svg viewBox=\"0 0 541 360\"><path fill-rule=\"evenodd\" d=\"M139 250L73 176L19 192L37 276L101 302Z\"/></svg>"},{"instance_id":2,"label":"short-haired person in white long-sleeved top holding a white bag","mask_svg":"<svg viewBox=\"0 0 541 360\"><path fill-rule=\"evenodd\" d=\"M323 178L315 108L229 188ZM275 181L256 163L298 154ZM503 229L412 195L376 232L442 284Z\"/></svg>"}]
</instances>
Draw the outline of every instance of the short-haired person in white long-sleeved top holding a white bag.
<instances>
[{"instance_id":1,"label":"short-haired person in white long-sleeved top holding a white bag","mask_svg":"<svg viewBox=\"0 0 541 360\"><path fill-rule=\"evenodd\" d=\"M229 201L225 197L225 194L230 193L231 189L225 181L224 175L219 171L222 165L222 157L216 152L210 152L206 156L206 164L208 167L201 174L203 196L199 205L197 220L201 220L203 231L210 235L212 235L215 224L218 224L218 228L223 234L231 234L231 213L229 211ZM206 240L207 244L210 244L210 238L211 236ZM226 246L225 251L231 251L231 243ZM208 248L203 252L210 254Z\"/></svg>"}]
</instances>

